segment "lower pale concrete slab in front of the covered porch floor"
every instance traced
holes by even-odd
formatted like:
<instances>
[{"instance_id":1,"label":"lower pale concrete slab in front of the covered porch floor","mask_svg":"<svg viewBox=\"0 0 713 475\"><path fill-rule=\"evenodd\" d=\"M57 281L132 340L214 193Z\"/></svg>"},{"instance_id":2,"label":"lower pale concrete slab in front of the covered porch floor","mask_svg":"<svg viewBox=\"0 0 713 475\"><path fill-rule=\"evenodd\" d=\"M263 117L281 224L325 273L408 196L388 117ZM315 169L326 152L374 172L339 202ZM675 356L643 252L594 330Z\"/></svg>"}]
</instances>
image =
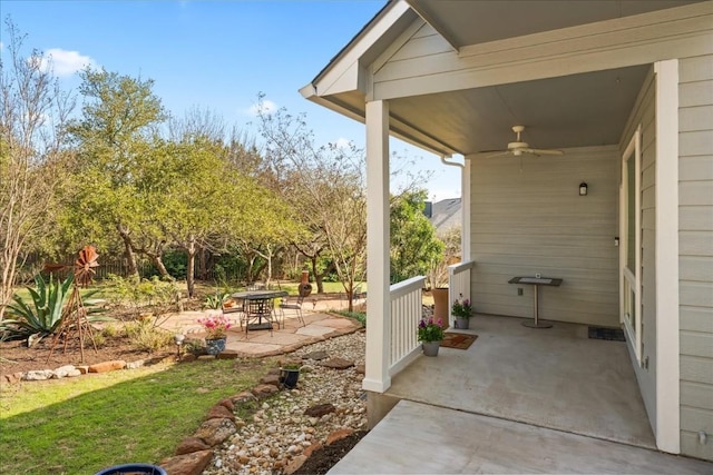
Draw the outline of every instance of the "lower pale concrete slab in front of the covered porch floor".
<instances>
[{"instance_id":1,"label":"lower pale concrete slab in front of the covered porch floor","mask_svg":"<svg viewBox=\"0 0 713 475\"><path fill-rule=\"evenodd\" d=\"M329 474L711 474L713 464L401 400Z\"/></svg>"}]
</instances>

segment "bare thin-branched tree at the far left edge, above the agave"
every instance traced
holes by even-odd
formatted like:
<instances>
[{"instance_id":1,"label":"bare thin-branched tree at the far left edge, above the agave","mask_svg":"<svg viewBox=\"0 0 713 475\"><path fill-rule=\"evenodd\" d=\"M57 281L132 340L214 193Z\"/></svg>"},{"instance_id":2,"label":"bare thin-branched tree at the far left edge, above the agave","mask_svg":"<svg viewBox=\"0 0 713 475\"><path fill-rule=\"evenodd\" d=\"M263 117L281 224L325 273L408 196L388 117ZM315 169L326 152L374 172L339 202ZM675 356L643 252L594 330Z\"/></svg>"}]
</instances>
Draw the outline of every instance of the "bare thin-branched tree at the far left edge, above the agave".
<instances>
[{"instance_id":1,"label":"bare thin-branched tree at the far left edge, above the agave","mask_svg":"<svg viewBox=\"0 0 713 475\"><path fill-rule=\"evenodd\" d=\"M0 58L0 320L30 246L51 228L65 174L64 126L75 99L64 93L38 50L22 56L25 36L8 19Z\"/></svg>"}]
</instances>

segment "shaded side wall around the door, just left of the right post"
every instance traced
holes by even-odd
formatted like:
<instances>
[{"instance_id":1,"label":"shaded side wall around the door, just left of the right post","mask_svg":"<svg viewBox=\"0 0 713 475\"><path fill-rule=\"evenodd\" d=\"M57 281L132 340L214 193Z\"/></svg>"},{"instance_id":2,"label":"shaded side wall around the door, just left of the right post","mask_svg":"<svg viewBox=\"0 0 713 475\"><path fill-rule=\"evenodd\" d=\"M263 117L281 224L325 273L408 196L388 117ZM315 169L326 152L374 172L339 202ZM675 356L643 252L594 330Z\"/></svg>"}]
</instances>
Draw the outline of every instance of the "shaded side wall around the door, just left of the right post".
<instances>
[{"instance_id":1,"label":"shaded side wall around the door, just left of the right post","mask_svg":"<svg viewBox=\"0 0 713 475\"><path fill-rule=\"evenodd\" d=\"M632 343L627 342L627 345L648 419L652 427L656 427L656 83L653 68L642 86L632 116L622 135L619 157L639 125L642 126L642 359L648 358L646 367L639 366L636 362Z\"/></svg>"}]
</instances>

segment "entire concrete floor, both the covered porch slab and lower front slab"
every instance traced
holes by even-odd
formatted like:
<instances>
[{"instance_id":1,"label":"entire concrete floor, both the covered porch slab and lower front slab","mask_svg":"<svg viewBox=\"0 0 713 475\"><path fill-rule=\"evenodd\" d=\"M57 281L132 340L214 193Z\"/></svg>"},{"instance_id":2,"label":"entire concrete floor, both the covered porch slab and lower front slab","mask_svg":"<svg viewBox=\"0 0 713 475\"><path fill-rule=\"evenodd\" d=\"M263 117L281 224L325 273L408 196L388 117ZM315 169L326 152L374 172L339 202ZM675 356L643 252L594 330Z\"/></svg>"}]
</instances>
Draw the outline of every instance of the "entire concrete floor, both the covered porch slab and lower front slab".
<instances>
[{"instance_id":1,"label":"entire concrete floor, both the covered porch slab and lower front slab","mask_svg":"<svg viewBox=\"0 0 713 475\"><path fill-rule=\"evenodd\" d=\"M661 454L626 344L478 315L470 348L420 356L402 399L330 473L713 473Z\"/></svg>"}]
</instances>

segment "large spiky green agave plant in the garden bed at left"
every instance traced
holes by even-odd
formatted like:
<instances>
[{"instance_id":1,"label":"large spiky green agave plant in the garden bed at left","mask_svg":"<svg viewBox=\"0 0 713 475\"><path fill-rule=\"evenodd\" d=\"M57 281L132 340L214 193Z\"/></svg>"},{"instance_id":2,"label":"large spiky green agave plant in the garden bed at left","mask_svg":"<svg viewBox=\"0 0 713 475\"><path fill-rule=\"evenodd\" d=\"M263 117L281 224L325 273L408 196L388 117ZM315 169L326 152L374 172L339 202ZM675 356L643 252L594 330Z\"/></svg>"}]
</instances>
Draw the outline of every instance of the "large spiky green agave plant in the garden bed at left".
<instances>
[{"instance_id":1,"label":"large spiky green agave plant in the garden bed at left","mask_svg":"<svg viewBox=\"0 0 713 475\"><path fill-rule=\"evenodd\" d=\"M28 287L31 301L19 295L12 296L12 303L8 305L8 317L0 324L0 331L3 331L9 339L27 338L30 336L45 337L55 334L65 318L65 306L71 295L74 276L70 274L65 280L55 280L50 274L49 283L46 283L41 275L35 277L35 288ZM96 294L97 290L89 290L85 298ZM87 308L87 320L106 320L95 314L99 311L94 307L92 300L85 300Z\"/></svg>"}]
</instances>

